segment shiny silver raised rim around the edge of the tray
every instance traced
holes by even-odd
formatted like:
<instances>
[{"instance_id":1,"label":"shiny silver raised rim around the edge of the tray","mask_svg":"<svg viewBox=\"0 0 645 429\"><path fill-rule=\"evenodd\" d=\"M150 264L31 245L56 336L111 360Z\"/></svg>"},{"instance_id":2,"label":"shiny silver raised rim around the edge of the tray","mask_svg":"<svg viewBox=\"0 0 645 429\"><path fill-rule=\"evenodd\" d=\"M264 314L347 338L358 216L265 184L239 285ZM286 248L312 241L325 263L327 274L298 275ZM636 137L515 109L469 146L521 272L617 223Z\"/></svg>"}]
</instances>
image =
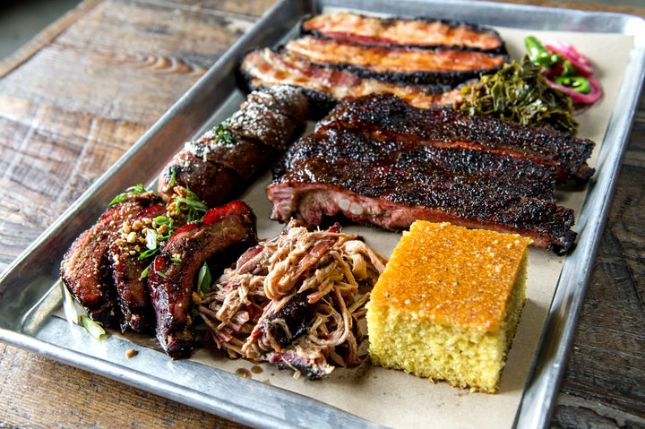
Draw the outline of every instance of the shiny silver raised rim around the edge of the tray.
<instances>
[{"instance_id":1,"label":"shiny silver raised rim around the edge of the tray","mask_svg":"<svg viewBox=\"0 0 645 429\"><path fill-rule=\"evenodd\" d=\"M379 7L388 9L390 6L386 3L384 1L369 2L367 0L357 0L356 4L351 4L351 7L367 10ZM448 2L440 2L439 0L411 0L403 3L409 7L417 7L418 4L441 3L455 5L467 4L471 7L473 6L473 3L462 0ZM581 234L575 252L568 255L563 264L562 274L558 281L558 286L556 287L553 301L546 315L546 321L538 342L538 351L536 356L534 356L523 397L520 401L520 407L513 424L516 427L545 427L553 412L555 393L562 379L564 365L569 356L572 337L578 323L583 297L589 282L589 268L595 259L600 236L605 227L606 213L609 210L610 202L615 191L615 181L612 179L617 175L621 167L624 151L629 142L629 135L632 130L633 115L635 114L635 109L639 101L638 95L641 93L643 86L643 79L645 77L645 65L643 64L645 63L645 21L640 17L625 13L589 12L525 4L476 3L481 8L495 7L497 10L503 9L508 12L522 13L523 16L535 15L535 12L539 11L543 16L570 14L576 17L584 17L591 21L610 21L615 25L616 29L623 29L624 34L632 34L634 36L634 46L632 47L631 60L628 64L628 71L631 70L633 72L632 79L624 80L617 98L626 102L615 104L606 135L603 138L600 153L598 154L598 160L602 160L602 168L605 173L602 176L598 175L600 176L600 180L589 186L589 191L581 209L580 219L578 220L578 227L584 228L585 234ZM134 154L142 150L142 147L146 143L159 138L159 135L163 135L165 129L169 124L172 124L176 116L184 116L190 110L189 107L193 103L196 94L199 94L204 87L208 87L209 82L212 79L216 79L218 73L222 73L222 69L227 69L227 67L230 69L230 64L240 49L251 46L254 42L261 40L262 31L275 22L274 20L279 18L281 13L285 13L285 8L297 6L302 10L306 10L307 8L316 10L321 5L347 6L347 4L348 2L335 2L334 0L329 2L279 0L271 6L271 9L255 22L253 29L238 39L211 66L211 69L175 105L170 107L168 112L148 132L143 134L130 150L125 152L124 156L116 162L115 166L100 176L82 194L77 202L74 202L68 210L65 210L64 214L52 226L47 227L47 230L4 270L0 276L0 299L3 296L3 283L8 283L11 281L10 279L20 276L23 266L30 262L30 256L42 246L46 246L52 237L62 234L61 231L64 229L65 224L72 221L74 216L84 207L88 207L90 200L96 199L99 196L100 201L106 201L111 193L105 195L105 192L102 192L105 184L113 180L121 168L133 158ZM502 16L505 13L499 14ZM529 19L530 21L532 18L529 16L529 18L524 19ZM615 32L618 32L618 30ZM628 74L626 73L625 76L628 76ZM633 96L633 94L636 94L636 96ZM197 120L197 122L200 122L200 120ZM606 142L612 142L612 144L605 144ZM606 173L606 171L609 173ZM591 213L593 215L590 215ZM244 405L231 404L227 400L226 395L214 395L208 397L208 400L205 400L200 397L202 395L201 391L186 389L185 386L181 386L181 389L176 389L176 384L168 382L167 380L155 379L150 373L146 374L133 371L127 367L99 359L96 356L88 356L78 350L56 346L42 339L24 334L20 330L5 329L1 326L0 323L0 340L6 343L35 351L40 355L54 358L93 373L105 375L108 378L131 384L137 388L145 388L169 399L177 400L245 425L253 425L256 427L286 427L285 425L292 425L294 421L297 421L289 421L284 417L272 416L271 413L266 413L262 410L245 408ZM546 334L554 330L560 333L557 339L547 339ZM209 367L209 370L212 371L213 369L215 368ZM221 370L218 371L223 372ZM273 387L273 389L278 388ZM281 397L285 392L281 392ZM352 422L356 427L382 427L360 417L352 416L344 411L332 408L329 405L315 403L318 401L308 399L302 395L286 392L285 396L290 397L293 395L296 395L297 398L294 400L297 402L303 399L314 401L313 404L307 404L307 407L311 407L312 410L323 414L331 412L336 417L342 416L342 418L348 419L346 422ZM291 398L287 400L291 400ZM331 411L328 408L332 408ZM311 422L303 423L305 426L309 425L311 427ZM293 425L292 427L303 426ZM324 427L327 426L325 425Z\"/></svg>"}]
</instances>

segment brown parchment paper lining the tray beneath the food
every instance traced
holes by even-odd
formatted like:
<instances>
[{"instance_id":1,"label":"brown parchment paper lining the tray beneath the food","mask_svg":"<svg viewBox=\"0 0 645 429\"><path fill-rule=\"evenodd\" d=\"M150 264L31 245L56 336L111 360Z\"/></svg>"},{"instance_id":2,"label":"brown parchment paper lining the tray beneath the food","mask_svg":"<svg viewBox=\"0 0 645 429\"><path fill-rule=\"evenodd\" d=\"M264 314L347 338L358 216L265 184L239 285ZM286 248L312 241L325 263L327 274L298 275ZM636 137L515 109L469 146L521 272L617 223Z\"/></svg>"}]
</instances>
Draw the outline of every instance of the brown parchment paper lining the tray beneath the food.
<instances>
[{"instance_id":1,"label":"brown parchment paper lining the tray beneath the food","mask_svg":"<svg viewBox=\"0 0 645 429\"><path fill-rule=\"evenodd\" d=\"M510 28L496 30L505 40L512 58L520 59L525 52L523 39L529 32ZM624 70L629 63L633 39L624 35L577 32L530 31L530 34L543 41L560 40L572 43L581 53L589 56L596 68L598 79L605 91L603 99L576 116L581 124L579 136L598 143L589 160L589 165L594 167L598 146L603 141L618 90L624 79ZM284 227L270 220L271 202L266 198L266 186L270 181L269 174L262 176L242 196L257 215L258 236L261 238L276 236ZM560 190L557 196L560 204L580 213L585 188ZM348 226L344 231L363 236L368 245L386 256L391 254L391 250L400 239L398 233L374 227ZM528 301L522 311L520 325L503 369L500 390L496 394L457 389L444 382L432 383L401 371L375 367L369 360L358 368L338 368L328 379L311 382L305 378L297 379L293 373L280 371L272 365L244 359L230 360L224 352L211 348L196 350L192 359L230 373L238 373L257 382L319 399L333 407L392 428L511 427L563 261L564 257L553 253L540 249L530 250ZM125 334L125 338L145 347L159 348L154 338L145 339L128 334Z\"/></svg>"}]
</instances>

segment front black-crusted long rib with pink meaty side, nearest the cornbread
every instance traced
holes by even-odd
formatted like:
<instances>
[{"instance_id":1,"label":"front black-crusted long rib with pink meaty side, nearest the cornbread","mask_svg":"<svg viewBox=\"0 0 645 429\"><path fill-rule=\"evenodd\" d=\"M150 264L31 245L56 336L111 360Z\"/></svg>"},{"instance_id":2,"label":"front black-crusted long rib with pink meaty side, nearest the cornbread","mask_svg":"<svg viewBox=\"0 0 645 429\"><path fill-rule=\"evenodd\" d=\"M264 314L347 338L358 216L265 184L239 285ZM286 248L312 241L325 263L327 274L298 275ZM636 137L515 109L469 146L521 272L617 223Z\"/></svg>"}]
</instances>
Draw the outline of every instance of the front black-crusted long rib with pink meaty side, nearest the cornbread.
<instances>
[{"instance_id":1,"label":"front black-crusted long rib with pink meaty side, nearest the cornbread","mask_svg":"<svg viewBox=\"0 0 645 429\"><path fill-rule=\"evenodd\" d=\"M342 215L389 229L409 227L416 219L450 221L529 236L534 245L555 253L565 253L575 241L573 211L553 202L494 193L484 186L437 182L436 176L417 175L414 170L366 168L351 159L335 165L310 159L296 169L269 186L271 219L296 217L314 226Z\"/></svg>"}]
</instances>

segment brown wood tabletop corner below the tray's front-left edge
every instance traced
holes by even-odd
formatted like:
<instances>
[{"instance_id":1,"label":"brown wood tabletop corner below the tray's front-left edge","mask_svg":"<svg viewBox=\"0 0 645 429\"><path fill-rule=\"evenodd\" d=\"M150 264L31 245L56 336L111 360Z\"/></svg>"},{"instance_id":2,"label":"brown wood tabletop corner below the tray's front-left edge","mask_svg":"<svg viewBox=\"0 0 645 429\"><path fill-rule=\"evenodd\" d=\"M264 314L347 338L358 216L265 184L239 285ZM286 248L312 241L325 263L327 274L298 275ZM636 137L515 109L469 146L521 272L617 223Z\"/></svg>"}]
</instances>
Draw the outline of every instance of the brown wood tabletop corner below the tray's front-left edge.
<instances>
[{"instance_id":1,"label":"brown wood tabletop corner below the tray's front-left edge","mask_svg":"<svg viewBox=\"0 0 645 429\"><path fill-rule=\"evenodd\" d=\"M0 383L0 427L245 427L4 344L0 373L19 374Z\"/></svg>"}]
</instances>

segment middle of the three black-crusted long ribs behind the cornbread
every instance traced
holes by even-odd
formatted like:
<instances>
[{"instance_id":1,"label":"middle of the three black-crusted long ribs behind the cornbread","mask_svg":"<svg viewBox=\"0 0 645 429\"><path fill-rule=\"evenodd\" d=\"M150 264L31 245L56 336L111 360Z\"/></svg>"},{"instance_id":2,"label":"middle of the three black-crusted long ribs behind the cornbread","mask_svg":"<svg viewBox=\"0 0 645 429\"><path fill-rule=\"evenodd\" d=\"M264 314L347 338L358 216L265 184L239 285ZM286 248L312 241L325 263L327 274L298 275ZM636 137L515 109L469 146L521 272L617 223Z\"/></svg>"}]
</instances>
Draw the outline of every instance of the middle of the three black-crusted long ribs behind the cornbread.
<instances>
[{"instance_id":1,"label":"middle of the three black-crusted long ribs behind the cornbread","mask_svg":"<svg viewBox=\"0 0 645 429\"><path fill-rule=\"evenodd\" d=\"M464 189L486 188L495 193L555 201L553 167L495 152L435 147L388 137L348 129L313 133L288 150L284 161L274 167L274 176L308 173L309 161L324 159L330 166L339 165L342 169L349 162L351 167L378 174L371 182L380 182L383 175L400 176L402 180L424 177L433 186L452 183ZM352 178L341 176L340 180ZM368 181L366 185L386 184Z\"/></svg>"}]
</instances>

